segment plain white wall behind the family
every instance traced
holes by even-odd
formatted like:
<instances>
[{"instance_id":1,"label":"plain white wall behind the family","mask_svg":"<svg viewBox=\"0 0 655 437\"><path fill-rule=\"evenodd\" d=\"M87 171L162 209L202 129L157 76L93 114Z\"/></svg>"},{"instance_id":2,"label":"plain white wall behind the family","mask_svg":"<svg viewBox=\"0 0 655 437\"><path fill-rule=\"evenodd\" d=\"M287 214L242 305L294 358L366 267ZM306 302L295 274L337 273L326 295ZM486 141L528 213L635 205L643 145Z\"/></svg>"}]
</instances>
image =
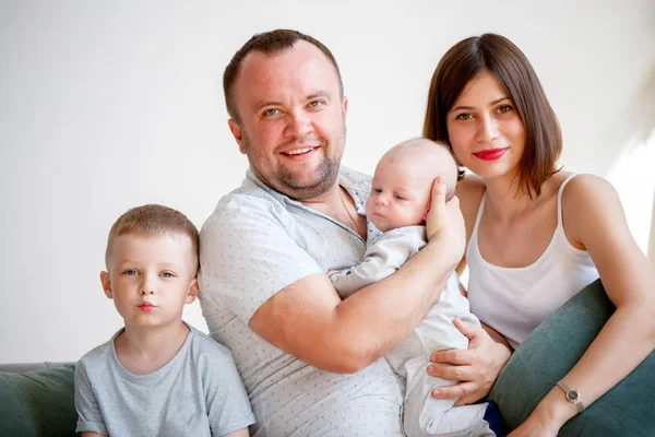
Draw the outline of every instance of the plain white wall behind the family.
<instances>
[{"instance_id":1,"label":"plain white wall behind the family","mask_svg":"<svg viewBox=\"0 0 655 437\"><path fill-rule=\"evenodd\" d=\"M655 3L527 3L0 0L0 363L76 359L120 327L98 280L120 213L160 202L200 226L240 182L221 78L242 43L275 27L333 50L350 101L344 162L367 172L419 134L452 44L510 37L560 117L562 162L610 177L645 251ZM206 329L198 305L186 318Z\"/></svg>"}]
</instances>

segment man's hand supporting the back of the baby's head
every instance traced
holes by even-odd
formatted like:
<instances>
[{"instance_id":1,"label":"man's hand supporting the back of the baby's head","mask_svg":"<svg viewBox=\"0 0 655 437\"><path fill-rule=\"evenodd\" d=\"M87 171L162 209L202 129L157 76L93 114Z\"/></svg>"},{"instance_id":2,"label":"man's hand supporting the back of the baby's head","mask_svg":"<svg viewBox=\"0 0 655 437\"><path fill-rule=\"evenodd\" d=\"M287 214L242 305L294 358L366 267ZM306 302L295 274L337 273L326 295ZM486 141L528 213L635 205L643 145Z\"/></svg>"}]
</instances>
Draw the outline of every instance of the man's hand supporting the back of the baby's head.
<instances>
[{"instance_id":1,"label":"man's hand supporting the back of the baby's head","mask_svg":"<svg viewBox=\"0 0 655 437\"><path fill-rule=\"evenodd\" d=\"M448 253L456 257L455 263L464 256L466 229L460 210L460 199L453 196L445 202L445 178L437 176L430 193L430 210L426 215L428 241L438 241Z\"/></svg>"}]
</instances>

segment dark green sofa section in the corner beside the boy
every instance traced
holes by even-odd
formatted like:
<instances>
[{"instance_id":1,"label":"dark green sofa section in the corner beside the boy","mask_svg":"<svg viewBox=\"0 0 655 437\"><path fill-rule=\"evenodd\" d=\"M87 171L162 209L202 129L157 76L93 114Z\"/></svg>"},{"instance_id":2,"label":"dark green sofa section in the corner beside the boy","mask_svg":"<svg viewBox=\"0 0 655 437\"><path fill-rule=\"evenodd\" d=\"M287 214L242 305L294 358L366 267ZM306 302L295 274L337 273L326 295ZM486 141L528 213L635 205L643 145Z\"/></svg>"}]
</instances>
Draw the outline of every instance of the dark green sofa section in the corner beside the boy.
<instances>
[{"instance_id":1,"label":"dark green sofa section in the corner beside the boy","mask_svg":"<svg viewBox=\"0 0 655 437\"><path fill-rule=\"evenodd\" d=\"M75 436L74 366L0 373L0 436Z\"/></svg>"}]
</instances>

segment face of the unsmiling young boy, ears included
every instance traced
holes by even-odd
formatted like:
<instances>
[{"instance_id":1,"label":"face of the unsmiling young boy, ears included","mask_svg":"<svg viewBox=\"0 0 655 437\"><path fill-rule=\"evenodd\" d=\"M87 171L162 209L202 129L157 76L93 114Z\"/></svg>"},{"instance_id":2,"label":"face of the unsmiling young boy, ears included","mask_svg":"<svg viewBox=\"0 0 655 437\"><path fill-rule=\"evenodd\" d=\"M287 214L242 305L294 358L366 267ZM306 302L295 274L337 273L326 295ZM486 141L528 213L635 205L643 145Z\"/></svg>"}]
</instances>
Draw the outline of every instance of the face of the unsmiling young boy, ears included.
<instances>
[{"instance_id":1,"label":"face of the unsmiling young boy, ears included","mask_svg":"<svg viewBox=\"0 0 655 437\"><path fill-rule=\"evenodd\" d=\"M126 234L114 240L100 281L126 327L164 328L180 323L198 295L194 261L187 236Z\"/></svg>"}]
</instances>

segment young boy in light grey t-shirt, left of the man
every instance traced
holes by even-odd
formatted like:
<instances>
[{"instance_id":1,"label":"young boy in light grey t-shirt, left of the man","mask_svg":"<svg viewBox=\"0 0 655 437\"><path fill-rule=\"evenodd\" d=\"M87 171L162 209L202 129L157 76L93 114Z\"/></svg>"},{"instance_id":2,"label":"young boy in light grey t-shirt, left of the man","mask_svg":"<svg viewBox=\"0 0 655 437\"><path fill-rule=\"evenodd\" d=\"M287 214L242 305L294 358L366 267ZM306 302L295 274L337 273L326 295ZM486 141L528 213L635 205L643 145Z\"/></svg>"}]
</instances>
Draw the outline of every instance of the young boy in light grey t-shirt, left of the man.
<instances>
[{"instance_id":1,"label":"young boy in light grey t-shirt, left of the man","mask_svg":"<svg viewBox=\"0 0 655 437\"><path fill-rule=\"evenodd\" d=\"M254 423L229 351L182 321L198 295L198 229L150 204L109 232L103 290L124 320L75 368L82 436L248 436Z\"/></svg>"}]
</instances>

